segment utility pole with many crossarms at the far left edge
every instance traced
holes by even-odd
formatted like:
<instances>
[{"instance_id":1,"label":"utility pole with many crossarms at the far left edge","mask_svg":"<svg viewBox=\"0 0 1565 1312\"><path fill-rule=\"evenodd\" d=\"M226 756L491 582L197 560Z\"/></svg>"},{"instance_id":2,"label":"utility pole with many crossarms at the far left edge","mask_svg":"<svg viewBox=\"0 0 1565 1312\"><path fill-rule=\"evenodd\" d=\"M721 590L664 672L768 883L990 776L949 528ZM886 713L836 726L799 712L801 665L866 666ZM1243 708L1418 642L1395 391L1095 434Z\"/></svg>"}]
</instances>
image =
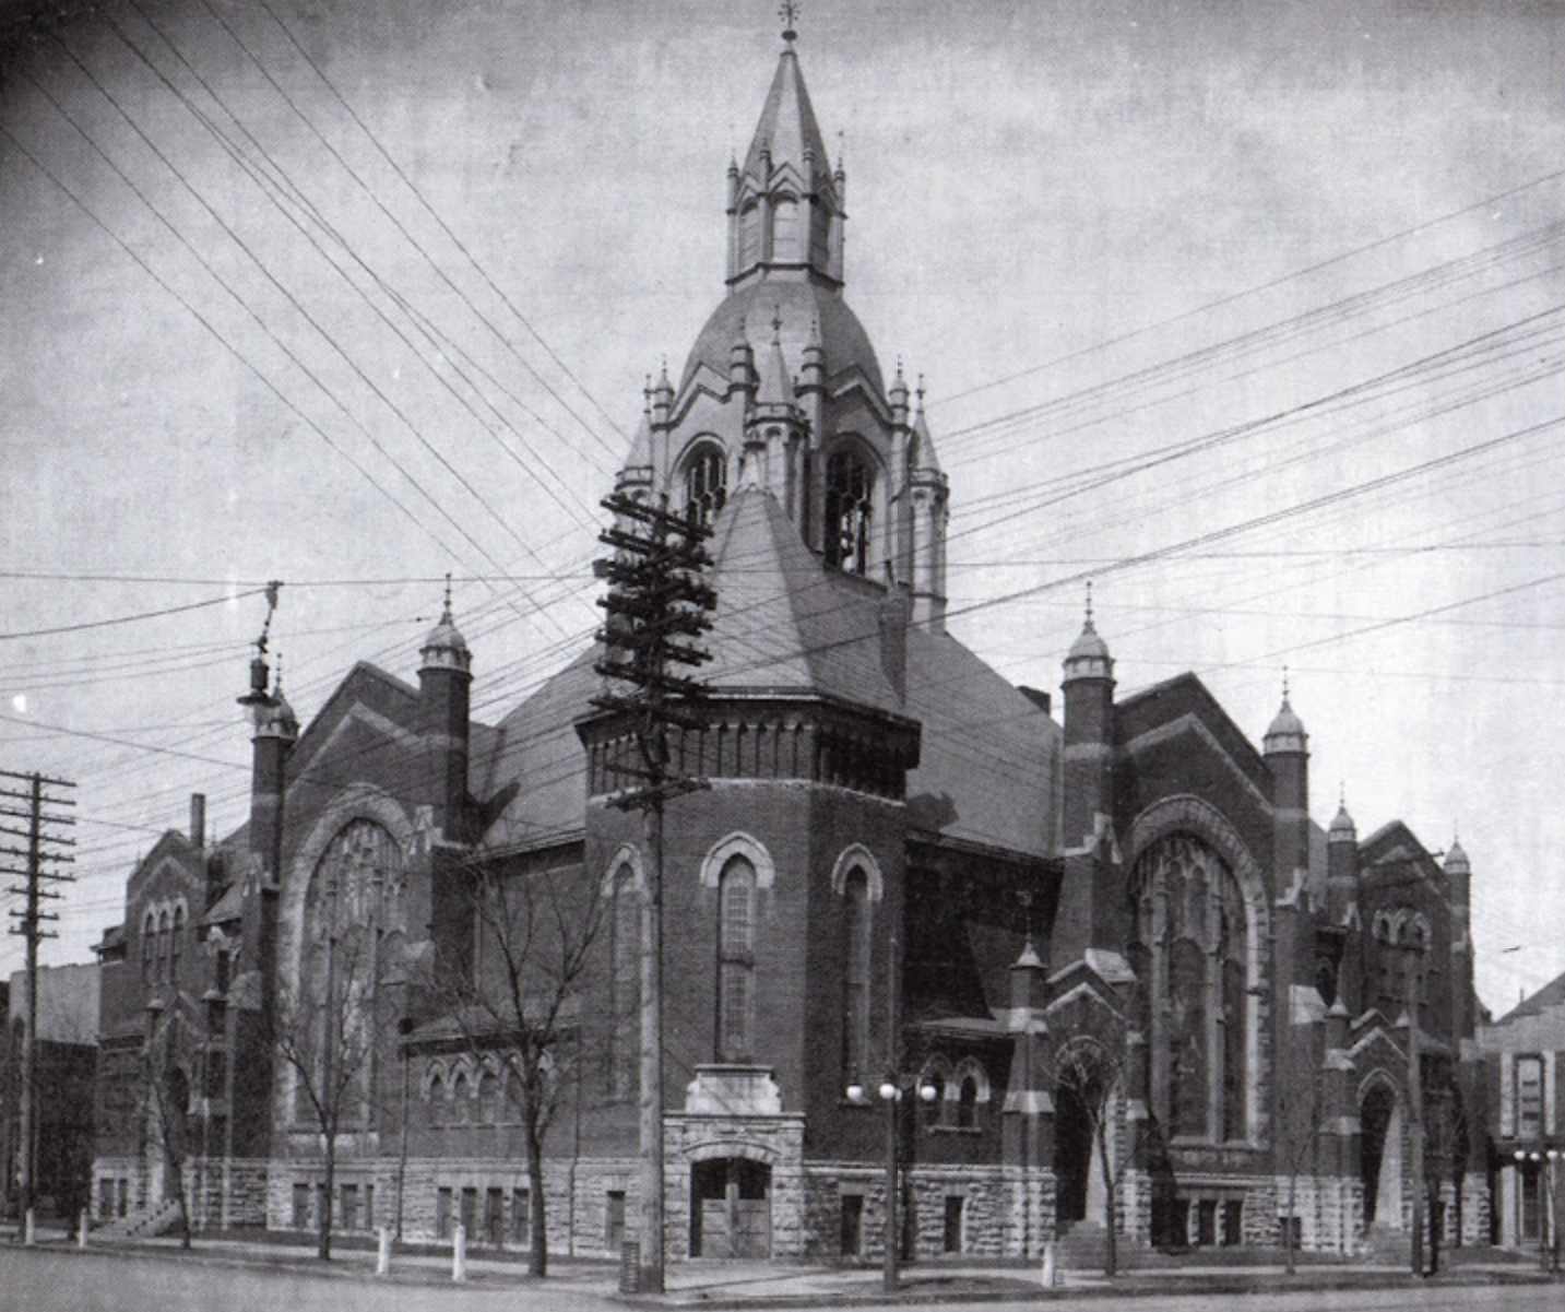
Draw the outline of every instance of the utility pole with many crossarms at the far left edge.
<instances>
[{"instance_id":1,"label":"utility pole with many crossarms at the far left edge","mask_svg":"<svg viewBox=\"0 0 1565 1312\"><path fill-rule=\"evenodd\" d=\"M27 784L25 789L6 788L11 781ZM11 892L23 899L22 908L11 910L17 924L11 933L27 939L27 1033L22 1040L22 1132L17 1152L17 1174L20 1185L22 1234L27 1243L33 1242L33 1206L38 1193L38 944L45 938L55 938L53 930L45 930L49 921L58 921L53 911L44 911L44 902L59 897L59 892L44 885L69 883L70 875L52 869L69 866L75 861L61 849L75 847L75 841L59 838L53 830L67 828L75 824L70 816L61 816L58 808L75 806L75 798L63 797L59 789L75 788L70 780L55 780L47 775L22 775L14 770L0 770L0 819L25 820L27 828L14 824L0 824L0 834L20 838L27 847L0 847L0 872L25 878L23 886L11 886ZM20 809L16 803L25 803ZM55 808L55 809L52 809ZM22 861L25 864L17 866Z\"/></svg>"}]
</instances>

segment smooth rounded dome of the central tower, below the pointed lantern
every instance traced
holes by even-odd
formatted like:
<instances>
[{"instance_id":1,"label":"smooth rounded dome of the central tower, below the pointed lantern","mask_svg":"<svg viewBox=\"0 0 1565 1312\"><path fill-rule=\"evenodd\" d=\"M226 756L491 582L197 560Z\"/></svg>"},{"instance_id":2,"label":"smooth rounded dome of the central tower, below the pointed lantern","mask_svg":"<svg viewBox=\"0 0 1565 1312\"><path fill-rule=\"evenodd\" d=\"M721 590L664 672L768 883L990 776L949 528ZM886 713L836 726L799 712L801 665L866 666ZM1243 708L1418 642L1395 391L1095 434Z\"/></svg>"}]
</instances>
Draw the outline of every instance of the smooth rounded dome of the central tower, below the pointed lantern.
<instances>
[{"instance_id":1,"label":"smooth rounded dome of the central tower, below the pointed lantern","mask_svg":"<svg viewBox=\"0 0 1565 1312\"><path fill-rule=\"evenodd\" d=\"M679 391L684 393L701 365L726 379L734 343L740 337L768 341L773 318L781 319L776 335L793 373L803 368L804 348L815 338L825 352L828 377L858 366L875 395L886 395L875 348L847 302L828 287L779 277L761 279L723 297L690 348Z\"/></svg>"}]
</instances>

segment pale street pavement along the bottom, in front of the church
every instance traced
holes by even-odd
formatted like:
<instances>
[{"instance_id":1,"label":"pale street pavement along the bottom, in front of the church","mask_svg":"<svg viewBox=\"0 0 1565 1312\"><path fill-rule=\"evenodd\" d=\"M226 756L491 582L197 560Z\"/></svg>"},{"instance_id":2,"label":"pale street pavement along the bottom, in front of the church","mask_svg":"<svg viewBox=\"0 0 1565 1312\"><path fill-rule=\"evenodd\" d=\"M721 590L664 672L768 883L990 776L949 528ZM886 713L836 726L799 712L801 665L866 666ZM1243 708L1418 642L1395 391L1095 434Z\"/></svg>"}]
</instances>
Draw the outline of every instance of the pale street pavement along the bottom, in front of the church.
<instances>
[{"instance_id":1,"label":"pale street pavement along the bottom, in front of the church","mask_svg":"<svg viewBox=\"0 0 1565 1312\"><path fill-rule=\"evenodd\" d=\"M177 1240L97 1245L77 1249L63 1235L45 1232L34 1248L0 1242L0 1312L207 1312L227 1307L286 1312L358 1312L396 1307L515 1309L529 1312L628 1312L629 1307L762 1307L840 1309L901 1301L912 1304L1052 1309L1103 1312L1141 1303L1158 1312L1211 1312L1265 1307L1266 1312L1379 1312L1416 1307L1421 1312L1565 1312L1565 1284L1540 1282L1535 1267L1496 1257L1468 1263L1432 1281L1415 1281L1393 1267L1186 1265L1131 1271L1110 1282L1097 1271L1064 1271L1058 1289L1041 1287L1036 1268L947 1265L920 1262L903 1273L903 1287L887 1296L878 1270L776 1263L676 1263L668 1267L662 1296L621 1298L617 1270L607 1262L551 1263L546 1281L534 1281L518 1260L474 1256L468 1281L451 1281L451 1259L399 1254L390 1276L374 1274L374 1253L340 1251L330 1263L308 1248L227 1237L197 1238L182 1253Z\"/></svg>"}]
</instances>

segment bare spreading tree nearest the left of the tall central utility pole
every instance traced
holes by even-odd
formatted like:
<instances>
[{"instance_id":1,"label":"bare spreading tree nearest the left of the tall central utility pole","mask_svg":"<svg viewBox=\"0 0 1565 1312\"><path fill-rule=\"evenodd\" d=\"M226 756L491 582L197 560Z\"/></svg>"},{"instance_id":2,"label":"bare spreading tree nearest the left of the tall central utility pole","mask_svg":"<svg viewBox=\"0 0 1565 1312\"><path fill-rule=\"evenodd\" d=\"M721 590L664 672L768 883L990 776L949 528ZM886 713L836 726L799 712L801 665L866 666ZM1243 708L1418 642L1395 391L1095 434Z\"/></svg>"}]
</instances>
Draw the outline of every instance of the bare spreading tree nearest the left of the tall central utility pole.
<instances>
[{"instance_id":1,"label":"bare spreading tree nearest the left of the tall central utility pole","mask_svg":"<svg viewBox=\"0 0 1565 1312\"><path fill-rule=\"evenodd\" d=\"M476 960L448 963L441 993L468 1049L498 1060L515 1090L532 1199L527 1271L545 1276L545 1140L560 1090L584 1060L581 991L610 899L579 866L476 860L470 870Z\"/></svg>"}]
</instances>

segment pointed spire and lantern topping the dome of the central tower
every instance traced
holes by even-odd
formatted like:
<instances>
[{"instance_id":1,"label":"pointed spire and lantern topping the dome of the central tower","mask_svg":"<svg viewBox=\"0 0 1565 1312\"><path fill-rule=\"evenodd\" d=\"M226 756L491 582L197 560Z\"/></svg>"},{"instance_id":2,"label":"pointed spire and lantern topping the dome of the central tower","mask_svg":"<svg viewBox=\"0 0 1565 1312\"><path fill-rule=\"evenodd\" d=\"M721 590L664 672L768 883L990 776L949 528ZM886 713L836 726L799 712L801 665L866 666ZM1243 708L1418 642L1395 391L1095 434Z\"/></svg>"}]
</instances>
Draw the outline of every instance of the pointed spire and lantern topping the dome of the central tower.
<instances>
[{"instance_id":1,"label":"pointed spire and lantern topping the dome of the central tower","mask_svg":"<svg viewBox=\"0 0 1565 1312\"><path fill-rule=\"evenodd\" d=\"M789 13L784 22L782 55L743 169L729 168L728 283L736 288L767 274L842 285L839 175L804 89Z\"/></svg>"}]
</instances>

